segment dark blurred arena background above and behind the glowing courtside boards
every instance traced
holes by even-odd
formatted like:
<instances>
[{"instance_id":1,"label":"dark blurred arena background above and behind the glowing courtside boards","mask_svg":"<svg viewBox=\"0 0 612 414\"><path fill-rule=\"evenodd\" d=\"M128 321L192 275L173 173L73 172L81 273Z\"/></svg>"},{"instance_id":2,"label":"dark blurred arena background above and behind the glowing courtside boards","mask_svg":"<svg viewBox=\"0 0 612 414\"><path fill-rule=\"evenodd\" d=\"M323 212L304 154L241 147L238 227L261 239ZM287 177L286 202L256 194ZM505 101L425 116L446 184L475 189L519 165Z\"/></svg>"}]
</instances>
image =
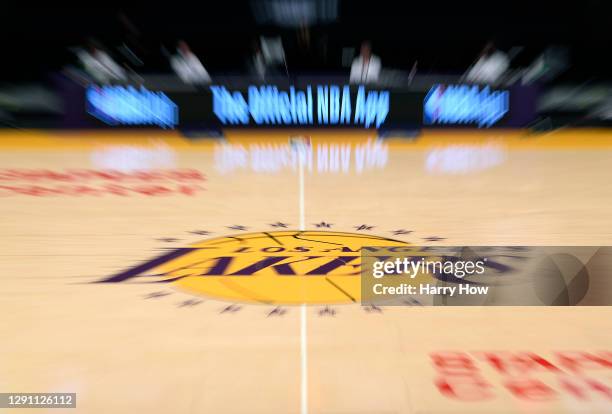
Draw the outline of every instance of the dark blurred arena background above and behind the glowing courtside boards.
<instances>
[{"instance_id":1,"label":"dark blurred arena background above and behind the glowing courtside boards","mask_svg":"<svg viewBox=\"0 0 612 414\"><path fill-rule=\"evenodd\" d=\"M8 127L102 126L83 109L84 88L94 83L164 92L185 102L177 128L213 127L205 108L194 108L210 105L198 93L206 85L350 80L409 95L390 121L412 128L421 126L419 94L461 83L515 89L512 99L524 108L505 125L600 125L610 115L606 6L264 0L195 9L7 7L0 119ZM374 55L371 73L350 79L362 45Z\"/></svg>"}]
</instances>

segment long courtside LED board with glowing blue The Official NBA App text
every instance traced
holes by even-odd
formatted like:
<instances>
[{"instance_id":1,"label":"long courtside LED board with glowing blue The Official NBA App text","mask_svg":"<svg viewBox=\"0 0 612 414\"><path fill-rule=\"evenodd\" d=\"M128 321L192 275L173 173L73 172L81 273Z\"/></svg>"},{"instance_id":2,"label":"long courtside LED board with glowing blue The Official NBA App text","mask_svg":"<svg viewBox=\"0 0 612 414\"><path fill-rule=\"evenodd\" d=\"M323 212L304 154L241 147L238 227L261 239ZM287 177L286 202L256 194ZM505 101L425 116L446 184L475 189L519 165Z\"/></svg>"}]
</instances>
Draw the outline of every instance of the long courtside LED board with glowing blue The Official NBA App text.
<instances>
[{"instance_id":1,"label":"long courtside LED board with glowing blue The Official NBA App text","mask_svg":"<svg viewBox=\"0 0 612 414\"><path fill-rule=\"evenodd\" d=\"M535 118L537 90L529 86L491 90L435 85L424 93L303 83L242 88L213 85L200 91L162 92L90 86L85 101L89 114L85 124L91 127L416 130L423 126L524 127Z\"/></svg>"}]
</instances>

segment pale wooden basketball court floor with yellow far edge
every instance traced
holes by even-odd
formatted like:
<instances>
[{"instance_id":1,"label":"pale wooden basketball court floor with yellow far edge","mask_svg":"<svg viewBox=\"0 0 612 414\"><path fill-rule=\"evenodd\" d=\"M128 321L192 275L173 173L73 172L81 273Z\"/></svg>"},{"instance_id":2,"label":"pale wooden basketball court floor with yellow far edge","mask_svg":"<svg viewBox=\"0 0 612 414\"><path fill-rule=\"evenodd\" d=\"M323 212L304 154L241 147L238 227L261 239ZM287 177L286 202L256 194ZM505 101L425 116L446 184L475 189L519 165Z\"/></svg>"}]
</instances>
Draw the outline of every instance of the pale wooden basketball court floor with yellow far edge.
<instances>
[{"instance_id":1,"label":"pale wooden basketball court floor with yellow far edge","mask_svg":"<svg viewBox=\"0 0 612 414\"><path fill-rule=\"evenodd\" d=\"M611 245L611 138L2 133L0 391L77 393L24 413L609 413L610 307L361 306L358 252Z\"/></svg>"}]
</instances>

